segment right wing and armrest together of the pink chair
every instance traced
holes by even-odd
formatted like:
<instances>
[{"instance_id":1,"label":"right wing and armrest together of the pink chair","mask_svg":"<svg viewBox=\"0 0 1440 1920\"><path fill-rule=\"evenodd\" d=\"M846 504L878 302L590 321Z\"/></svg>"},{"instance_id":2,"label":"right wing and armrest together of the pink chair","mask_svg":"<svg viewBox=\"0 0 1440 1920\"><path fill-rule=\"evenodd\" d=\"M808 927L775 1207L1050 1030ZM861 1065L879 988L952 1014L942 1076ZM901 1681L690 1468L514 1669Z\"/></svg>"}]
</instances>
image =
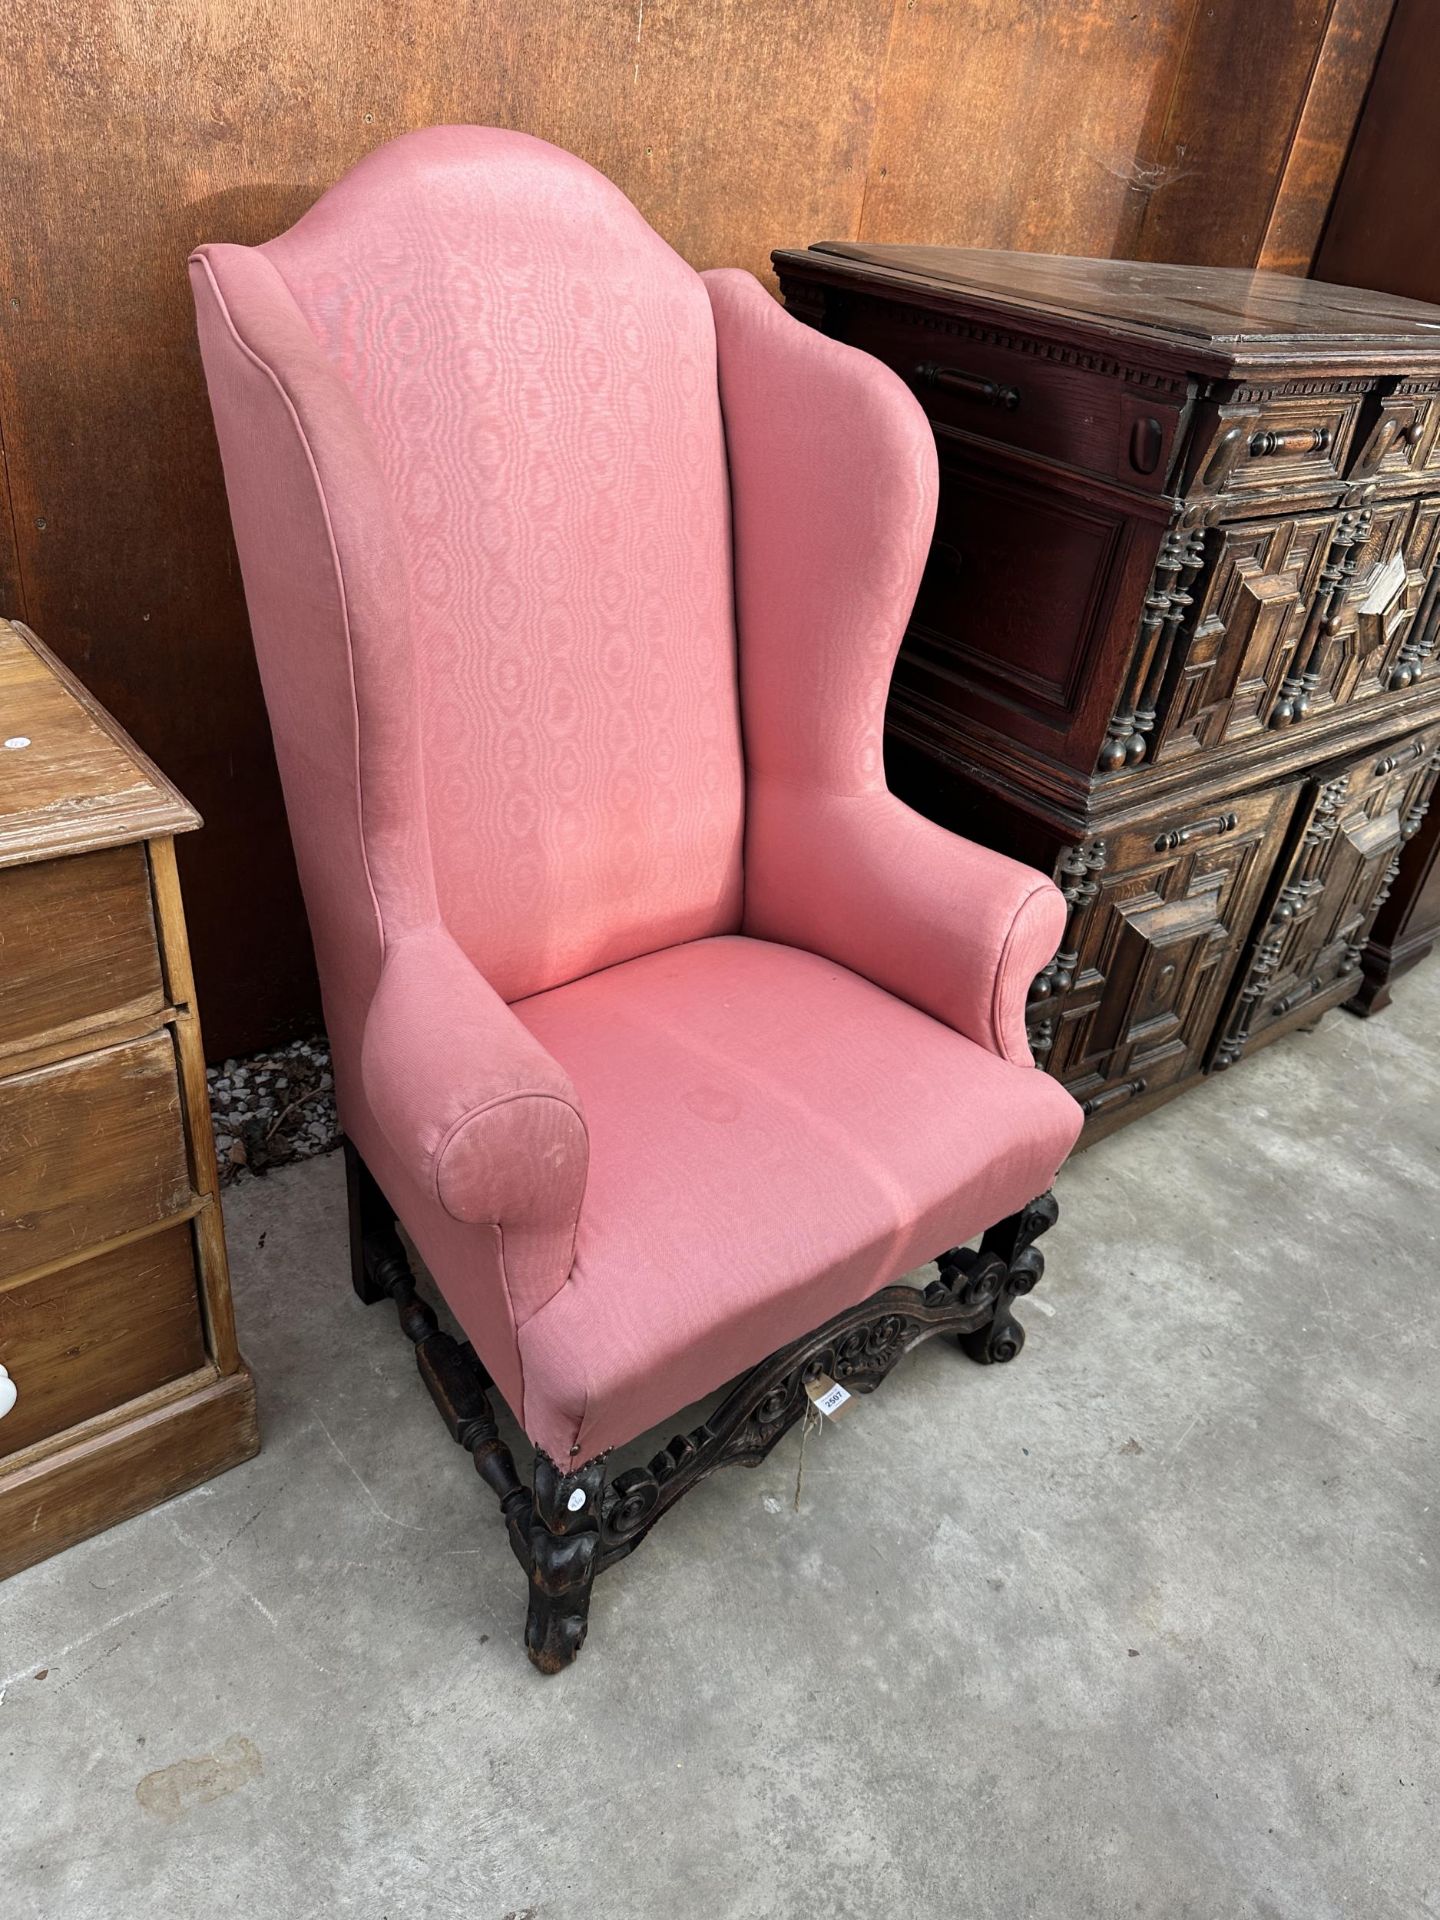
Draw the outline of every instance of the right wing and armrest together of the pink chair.
<instances>
[{"instance_id":1,"label":"right wing and armrest together of the pink chair","mask_svg":"<svg viewBox=\"0 0 1440 1920\"><path fill-rule=\"evenodd\" d=\"M745 931L808 947L1029 1064L1066 906L885 785L885 697L935 520L935 442L879 361L705 276L730 451L747 755Z\"/></svg>"}]
</instances>

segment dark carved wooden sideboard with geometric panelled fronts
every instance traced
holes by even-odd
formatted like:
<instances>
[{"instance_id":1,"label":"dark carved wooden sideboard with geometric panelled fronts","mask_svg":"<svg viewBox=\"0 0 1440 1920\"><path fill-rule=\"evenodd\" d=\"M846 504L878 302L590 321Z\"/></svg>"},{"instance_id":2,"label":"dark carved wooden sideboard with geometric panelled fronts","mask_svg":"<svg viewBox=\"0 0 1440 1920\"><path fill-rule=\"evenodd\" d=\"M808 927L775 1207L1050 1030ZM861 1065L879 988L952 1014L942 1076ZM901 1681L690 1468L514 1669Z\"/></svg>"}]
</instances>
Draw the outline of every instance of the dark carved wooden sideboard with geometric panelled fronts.
<instances>
[{"instance_id":1,"label":"dark carved wooden sideboard with geometric panelled fronts","mask_svg":"<svg viewBox=\"0 0 1440 1920\"><path fill-rule=\"evenodd\" d=\"M935 428L891 785L1066 891L1031 1035L1087 1139L1352 1000L1440 756L1440 307L958 248L774 259Z\"/></svg>"}]
</instances>

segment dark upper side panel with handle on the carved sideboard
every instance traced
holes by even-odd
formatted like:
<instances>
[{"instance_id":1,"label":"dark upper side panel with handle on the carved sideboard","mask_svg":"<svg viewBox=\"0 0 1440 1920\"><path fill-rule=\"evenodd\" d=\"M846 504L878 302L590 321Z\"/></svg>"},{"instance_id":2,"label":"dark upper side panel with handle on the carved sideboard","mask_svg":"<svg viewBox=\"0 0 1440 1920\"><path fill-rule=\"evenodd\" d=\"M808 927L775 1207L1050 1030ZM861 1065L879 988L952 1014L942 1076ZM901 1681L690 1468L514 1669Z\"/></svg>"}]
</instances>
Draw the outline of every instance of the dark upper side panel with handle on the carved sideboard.
<instances>
[{"instance_id":1,"label":"dark upper side panel with handle on the carved sideboard","mask_svg":"<svg viewBox=\"0 0 1440 1920\"><path fill-rule=\"evenodd\" d=\"M1175 382L1127 384L1102 353L876 300L847 311L843 338L893 367L939 428L1164 492L1185 396Z\"/></svg>"}]
</instances>

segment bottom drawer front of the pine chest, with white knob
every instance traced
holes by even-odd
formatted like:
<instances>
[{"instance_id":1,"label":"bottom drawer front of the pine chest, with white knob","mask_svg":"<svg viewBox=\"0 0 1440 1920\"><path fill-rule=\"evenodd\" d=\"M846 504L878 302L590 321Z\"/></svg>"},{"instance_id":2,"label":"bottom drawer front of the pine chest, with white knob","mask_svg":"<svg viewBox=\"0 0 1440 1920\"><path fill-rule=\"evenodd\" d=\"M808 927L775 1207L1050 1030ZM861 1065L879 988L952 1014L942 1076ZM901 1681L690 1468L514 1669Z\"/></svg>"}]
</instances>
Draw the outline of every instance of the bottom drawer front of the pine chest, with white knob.
<instances>
[{"instance_id":1,"label":"bottom drawer front of the pine chest, with white knob","mask_svg":"<svg viewBox=\"0 0 1440 1920\"><path fill-rule=\"evenodd\" d=\"M188 1223L0 1286L0 1455L205 1365Z\"/></svg>"}]
</instances>

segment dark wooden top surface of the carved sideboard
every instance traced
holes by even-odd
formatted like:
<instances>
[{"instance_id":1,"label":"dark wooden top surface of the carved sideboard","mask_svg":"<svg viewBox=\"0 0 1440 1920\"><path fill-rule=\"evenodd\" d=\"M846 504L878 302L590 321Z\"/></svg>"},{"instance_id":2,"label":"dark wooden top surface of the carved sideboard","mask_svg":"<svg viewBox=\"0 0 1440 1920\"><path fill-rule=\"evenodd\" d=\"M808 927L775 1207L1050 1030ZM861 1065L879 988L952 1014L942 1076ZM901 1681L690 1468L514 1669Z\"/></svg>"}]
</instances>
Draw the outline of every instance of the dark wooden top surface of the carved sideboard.
<instances>
[{"instance_id":1,"label":"dark wooden top surface of the carved sideboard","mask_svg":"<svg viewBox=\"0 0 1440 1920\"><path fill-rule=\"evenodd\" d=\"M1440 372L1440 307L1283 273L849 240L772 259L781 280L801 269L868 294L893 284L910 301L989 326L996 311L1018 328L1043 319L1048 338L1137 369L1223 380Z\"/></svg>"}]
</instances>

